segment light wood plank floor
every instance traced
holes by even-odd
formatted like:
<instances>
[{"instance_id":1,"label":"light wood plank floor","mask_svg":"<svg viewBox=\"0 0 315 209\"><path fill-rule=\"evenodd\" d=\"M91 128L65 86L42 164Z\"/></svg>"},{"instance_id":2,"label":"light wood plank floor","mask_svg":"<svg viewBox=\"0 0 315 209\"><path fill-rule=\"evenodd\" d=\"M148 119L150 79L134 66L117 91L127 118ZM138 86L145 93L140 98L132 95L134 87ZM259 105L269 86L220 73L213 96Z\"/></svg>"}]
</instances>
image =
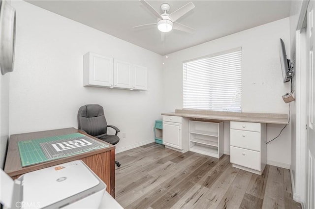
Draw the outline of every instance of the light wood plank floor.
<instances>
[{"instance_id":1,"label":"light wood plank floor","mask_svg":"<svg viewBox=\"0 0 315 209\"><path fill-rule=\"evenodd\" d=\"M233 168L230 158L182 154L148 144L116 155L116 200L127 209L300 209L290 171L263 175Z\"/></svg>"}]
</instances>

